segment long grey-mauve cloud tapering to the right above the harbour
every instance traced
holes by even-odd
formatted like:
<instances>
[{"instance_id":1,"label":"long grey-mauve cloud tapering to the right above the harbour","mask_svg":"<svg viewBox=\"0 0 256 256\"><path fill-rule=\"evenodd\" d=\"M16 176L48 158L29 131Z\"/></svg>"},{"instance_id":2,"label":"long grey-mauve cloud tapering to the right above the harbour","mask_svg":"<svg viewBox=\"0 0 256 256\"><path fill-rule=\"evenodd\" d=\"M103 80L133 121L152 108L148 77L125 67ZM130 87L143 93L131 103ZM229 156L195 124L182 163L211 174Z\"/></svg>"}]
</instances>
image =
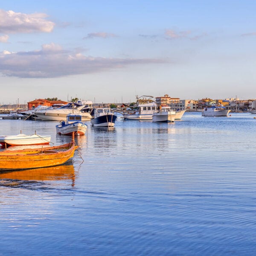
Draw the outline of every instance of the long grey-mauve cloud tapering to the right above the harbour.
<instances>
[{"instance_id":1,"label":"long grey-mauve cloud tapering to the right above the harbour","mask_svg":"<svg viewBox=\"0 0 256 256\"><path fill-rule=\"evenodd\" d=\"M77 50L63 50L56 44L31 52L0 53L2 76L49 78L97 73L128 65L166 63L161 59L102 58L84 56Z\"/></svg>"}]
</instances>

